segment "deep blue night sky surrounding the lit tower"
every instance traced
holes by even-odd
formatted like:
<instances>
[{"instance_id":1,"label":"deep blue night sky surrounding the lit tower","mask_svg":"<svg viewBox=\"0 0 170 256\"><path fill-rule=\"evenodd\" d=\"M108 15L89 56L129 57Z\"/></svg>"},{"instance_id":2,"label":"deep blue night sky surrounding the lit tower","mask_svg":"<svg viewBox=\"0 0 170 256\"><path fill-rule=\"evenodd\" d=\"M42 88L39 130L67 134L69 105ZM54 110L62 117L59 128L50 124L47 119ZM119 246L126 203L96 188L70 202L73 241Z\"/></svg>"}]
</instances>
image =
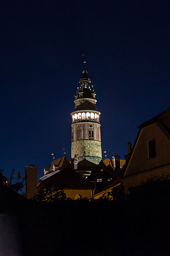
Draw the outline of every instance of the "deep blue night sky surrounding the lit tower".
<instances>
[{"instance_id":1,"label":"deep blue night sky surrounding the lit tower","mask_svg":"<svg viewBox=\"0 0 170 256\"><path fill-rule=\"evenodd\" d=\"M102 152L127 153L137 126L170 107L169 1L1 1L0 169L71 157L71 115L86 60ZM85 54L85 57L81 55ZM65 150L62 150L65 148ZM104 158L103 154L103 158Z\"/></svg>"}]
</instances>

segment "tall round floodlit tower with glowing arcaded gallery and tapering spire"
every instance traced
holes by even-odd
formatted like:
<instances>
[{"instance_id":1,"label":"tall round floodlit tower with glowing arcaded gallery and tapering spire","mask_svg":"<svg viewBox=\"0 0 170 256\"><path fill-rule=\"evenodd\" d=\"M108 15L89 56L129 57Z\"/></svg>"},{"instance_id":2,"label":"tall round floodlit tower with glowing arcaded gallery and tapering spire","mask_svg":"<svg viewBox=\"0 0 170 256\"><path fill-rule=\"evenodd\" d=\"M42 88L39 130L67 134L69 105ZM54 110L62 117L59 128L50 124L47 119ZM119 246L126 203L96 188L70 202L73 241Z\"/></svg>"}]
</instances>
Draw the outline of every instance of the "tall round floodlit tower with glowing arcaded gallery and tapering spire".
<instances>
[{"instance_id":1,"label":"tall round floodlit tower with glowing arcaded gallery and tapering spire","mask_svg":"<svg viewBox=\"0 0 170 256\"><path fill-rule=\"evenodd\" d=\"M77 169L80 161L98 164L102 159L100 112L96 111L96 94L93 86L90 86L91 80L87 76L85 63L80 87L75 95L75 109L71 113L71 159L74 169Z\"/></svg>"}]
</instances>

